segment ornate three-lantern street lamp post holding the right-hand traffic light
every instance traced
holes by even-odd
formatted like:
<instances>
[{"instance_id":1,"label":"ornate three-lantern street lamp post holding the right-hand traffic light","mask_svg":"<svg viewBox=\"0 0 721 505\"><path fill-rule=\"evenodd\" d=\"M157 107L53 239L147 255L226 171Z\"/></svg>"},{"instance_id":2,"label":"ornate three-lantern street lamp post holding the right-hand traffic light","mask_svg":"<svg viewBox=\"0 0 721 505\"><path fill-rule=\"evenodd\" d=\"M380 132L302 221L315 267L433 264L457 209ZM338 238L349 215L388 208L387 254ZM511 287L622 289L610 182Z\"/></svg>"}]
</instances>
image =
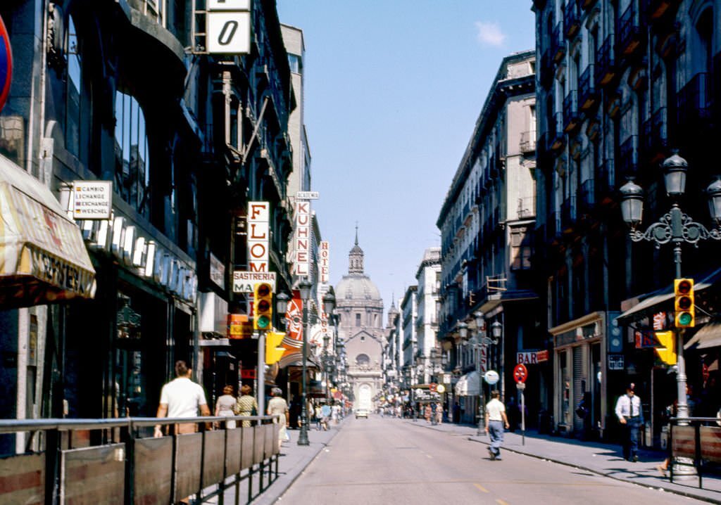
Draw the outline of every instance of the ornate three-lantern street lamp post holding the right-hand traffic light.
<instances>
[{"instance_id":1,"label":"ornate three-lantern street lamp post holding the right-hand traffic light","mask_svg":"<svg viewBox=\"0 0 721 505\"><path fill-rule=\"evenodd\" d=\"M673 262L676 265L676 279L681 278L681 244L691 243L698 245L699 241L714 239L721 240L719 228L708 229L701 223L696 223L689 215L681 211L678 199L686 192L686 173L689 164L678 152L666 158L661 164L663 169L663 182L666 194L671 197L671 210L665 213L657 222L651 224L646 231L638 231L643 214L643 189L633 181L632 177L621 188L621 213L624 221L631 228L629 235L634 242L655 242L657 247L664 243L673 243ZM709 211L716 226L721 224L721 178L709 184L706 189L709 197ZM686 362L684 360L684 331L676 328L676 385L678 394L677 416L679 419L688 419L689 405L686 401ZM683 421L682 421L683 423ZM679 467L679 470L686 465ZM681 470L684 472L684 470ZM686 472L688 473L688 472Z\"/></svg>"}]
</instances>

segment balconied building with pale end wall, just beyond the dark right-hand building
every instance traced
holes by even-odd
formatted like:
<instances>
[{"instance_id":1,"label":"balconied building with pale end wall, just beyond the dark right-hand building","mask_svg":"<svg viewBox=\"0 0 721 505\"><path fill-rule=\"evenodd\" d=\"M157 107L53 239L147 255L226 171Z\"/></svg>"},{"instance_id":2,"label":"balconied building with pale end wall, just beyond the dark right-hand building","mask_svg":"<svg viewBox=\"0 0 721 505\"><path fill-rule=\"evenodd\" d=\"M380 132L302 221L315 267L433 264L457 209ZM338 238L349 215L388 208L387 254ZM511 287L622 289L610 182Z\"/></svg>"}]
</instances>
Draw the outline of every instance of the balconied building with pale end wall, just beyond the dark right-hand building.
<instances>
[{"instance_id":1,"label":"balconied building with pale end wall, just beyond the dark right-hand building","mask_svg":"<svg viewBox=\"0 0 721 505\"><path fill-rule=\"evenodd\" d=\"M477 421L479 373L495 370L505 399L516 395L513 365L519 352L535 353L547 341L531 263L536 215L536 58L533 51L503 59L466 151L443 202L441 230L441 321L439 339L450 353L451 384L466 421ZM478 317L477 317L478 316ZM482 321L480 326L476 321ZM489 336L495 344L466 345ZM480 334L480 336L479 336ZM474 340L477 341L477 340ZM524 354L525 355L525 354ZM550 387L547 365L530 367L528 419L544 408ZM531 398L534 398L531 400Z\"/></svg>"}]
</instances>

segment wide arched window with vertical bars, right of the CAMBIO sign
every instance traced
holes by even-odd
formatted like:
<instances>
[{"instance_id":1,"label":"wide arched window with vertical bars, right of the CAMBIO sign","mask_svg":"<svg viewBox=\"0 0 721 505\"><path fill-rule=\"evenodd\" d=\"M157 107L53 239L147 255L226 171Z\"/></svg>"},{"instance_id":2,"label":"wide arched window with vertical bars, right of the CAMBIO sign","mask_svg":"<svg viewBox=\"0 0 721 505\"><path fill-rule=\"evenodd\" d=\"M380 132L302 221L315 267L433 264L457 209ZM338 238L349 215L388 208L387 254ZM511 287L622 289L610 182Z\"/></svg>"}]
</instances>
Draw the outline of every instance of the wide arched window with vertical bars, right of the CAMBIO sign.
<instances>
[{"instance_id":1,"label":"wide arched window with vertical bars, right of the CAMBIO sign","mask_svg":"<svg viewBox=\"0 0 721 505\"><path fill-rule=\"evenodd\" d=\"M149 210L149 156L145 115L135 97L115 94L115 191L141 215Z\"/></svg>"}]
</instances>

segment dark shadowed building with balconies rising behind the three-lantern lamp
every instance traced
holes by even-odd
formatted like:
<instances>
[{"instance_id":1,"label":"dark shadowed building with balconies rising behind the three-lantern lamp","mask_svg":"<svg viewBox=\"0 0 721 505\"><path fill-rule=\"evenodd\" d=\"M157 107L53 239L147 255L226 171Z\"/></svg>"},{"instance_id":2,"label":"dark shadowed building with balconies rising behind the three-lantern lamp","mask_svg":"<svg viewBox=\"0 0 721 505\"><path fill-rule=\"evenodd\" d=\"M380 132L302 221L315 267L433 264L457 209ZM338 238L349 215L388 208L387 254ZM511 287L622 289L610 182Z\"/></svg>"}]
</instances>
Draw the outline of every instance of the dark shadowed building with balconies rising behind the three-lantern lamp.
<instances>
[{"instance_id":1,"label":"dark shadowed building with balconies rising behind the three-lantern lamp","mask_svg":"<svg viewBox=\"0 0 721 505\"><path fill-rule=\"evenodd\" d=\"M645 189L644 229L661 218L671 201L660 162L677 148L690 167L691 198L681 207L707 222L702 195L716 172L709 139L721 124L714 106L721 5L553 0L534 1L534 11L540 64L533 257L542 265L538 292L553 344L554 429L613 437L614 401L633 381L650 421L645 439L658 440L676 377L643 334L673 325L673 248L629 240L618 189L630 179ZM717 305L718 251L715 243L683 249L684 276L707 281L699 299L709 314ZM717 347L689 348L692 388L707 388L717 359ZM574 414L584 396L592 405L586 426Z\"/></svg>"}]
</instances>

